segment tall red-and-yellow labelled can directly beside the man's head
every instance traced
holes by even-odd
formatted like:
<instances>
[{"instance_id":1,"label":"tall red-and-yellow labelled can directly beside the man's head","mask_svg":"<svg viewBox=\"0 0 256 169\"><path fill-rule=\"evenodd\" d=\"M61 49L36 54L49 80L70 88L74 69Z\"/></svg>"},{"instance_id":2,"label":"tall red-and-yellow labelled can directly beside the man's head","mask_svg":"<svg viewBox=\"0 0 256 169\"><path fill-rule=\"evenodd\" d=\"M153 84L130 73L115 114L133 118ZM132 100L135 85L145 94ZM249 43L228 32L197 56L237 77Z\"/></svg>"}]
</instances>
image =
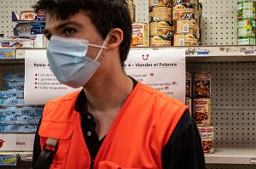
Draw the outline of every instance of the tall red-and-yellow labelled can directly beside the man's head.
<instances>
[{"instance_id":1,"label":"tall red-and-yellow labelled can directly beside the man's head","mask_svg":"<svg viewBox=\"0 0 256 169\"><path fill-rule=\"evenodd\" d=\"M148 46L148 24L133 23L131 47L147 47Z\"/></svg>"}]
</instances>

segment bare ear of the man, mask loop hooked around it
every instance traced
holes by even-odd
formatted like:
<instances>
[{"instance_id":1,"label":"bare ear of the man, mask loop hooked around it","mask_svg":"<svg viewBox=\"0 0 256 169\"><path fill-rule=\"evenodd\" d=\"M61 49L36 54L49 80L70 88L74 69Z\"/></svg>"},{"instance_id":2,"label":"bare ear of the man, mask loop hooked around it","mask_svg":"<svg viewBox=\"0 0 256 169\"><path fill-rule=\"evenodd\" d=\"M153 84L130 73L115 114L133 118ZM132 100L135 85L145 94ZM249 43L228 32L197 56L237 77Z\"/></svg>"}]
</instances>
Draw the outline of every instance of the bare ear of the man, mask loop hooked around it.
<instances>
[{"instance_id":1,"label":"bare ear of the man, mask loop hooked around it","mask_svg":"<svg viewBox=\"0 0 256 169\"><path fill-rule=\"evenodd\" d=\"M123 42L124 33L119 28L113 28L110 32L109 40L108 40L108 48L118 48L120 43Z\"/></svg>"}]
</instances>

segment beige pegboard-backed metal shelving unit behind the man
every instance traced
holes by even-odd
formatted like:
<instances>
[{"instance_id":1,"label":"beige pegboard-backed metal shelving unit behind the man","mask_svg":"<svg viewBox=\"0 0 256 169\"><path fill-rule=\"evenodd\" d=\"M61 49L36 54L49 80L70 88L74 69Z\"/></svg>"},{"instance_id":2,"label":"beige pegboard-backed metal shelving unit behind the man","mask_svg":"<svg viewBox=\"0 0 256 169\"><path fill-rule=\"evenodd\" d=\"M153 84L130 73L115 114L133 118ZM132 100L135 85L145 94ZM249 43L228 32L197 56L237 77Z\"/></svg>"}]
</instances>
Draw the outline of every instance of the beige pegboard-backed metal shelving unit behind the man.
<instances>
[{"instance_id":1,"label":"beige pegboard-backed metal shelving unit behind the man","mask_svg":"<svg viewBox=\"0 0 256 169\"><path fill-rule=\"evenodd\" d=\"M137 22L148 23L148 1L134 1L137 8ZM0 25L0 31L11 36L13 25L10 24L10 11L18 12L30 8L35 2L37 1L26 1L24 5L24 1L21 0L6 0L4 4L7 5L2 8L0 5L3 11L2 19L6 21ZM212 73L215 152L205 155L207 169L254 169L256 168L256 46L236 46L237 0L201 0L201 3L203 3L204 46L186 48L186 62L189 71ZM24 69L24 54L27 49L17 49L15 59L0 60L0 66L8 64L6 69L14 72ZM17 66L11 66L14 64ZM21 154L25 155L23 157L25 161L29 161L27 157L29 158L31 154L26 155L26 152ZM30 163L22 162L20 168L27 168L29 165Z\"/></svg>"}]
</instances>

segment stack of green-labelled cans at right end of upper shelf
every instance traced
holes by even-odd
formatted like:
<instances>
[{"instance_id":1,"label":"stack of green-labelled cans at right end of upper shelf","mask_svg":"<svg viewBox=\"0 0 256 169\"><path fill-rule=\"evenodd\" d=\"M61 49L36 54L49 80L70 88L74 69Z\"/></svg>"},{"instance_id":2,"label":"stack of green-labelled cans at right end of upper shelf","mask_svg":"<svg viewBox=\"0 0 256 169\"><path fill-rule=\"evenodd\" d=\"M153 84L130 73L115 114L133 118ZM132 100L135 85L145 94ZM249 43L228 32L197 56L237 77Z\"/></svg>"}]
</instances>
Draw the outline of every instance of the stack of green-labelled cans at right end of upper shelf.
<instances>
[{"instance_id":1,"label":"stack of green-labelled cans at right end of upper shelf","mask_svg":"<svg viewBox=\"0 0 256 169\"><path fill-rule=\"evenodd\" d=\"M255 1L237 2L237 43L238 45L256 44Z\"/></svg>"}]
</instances>

